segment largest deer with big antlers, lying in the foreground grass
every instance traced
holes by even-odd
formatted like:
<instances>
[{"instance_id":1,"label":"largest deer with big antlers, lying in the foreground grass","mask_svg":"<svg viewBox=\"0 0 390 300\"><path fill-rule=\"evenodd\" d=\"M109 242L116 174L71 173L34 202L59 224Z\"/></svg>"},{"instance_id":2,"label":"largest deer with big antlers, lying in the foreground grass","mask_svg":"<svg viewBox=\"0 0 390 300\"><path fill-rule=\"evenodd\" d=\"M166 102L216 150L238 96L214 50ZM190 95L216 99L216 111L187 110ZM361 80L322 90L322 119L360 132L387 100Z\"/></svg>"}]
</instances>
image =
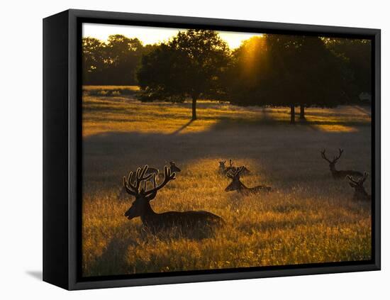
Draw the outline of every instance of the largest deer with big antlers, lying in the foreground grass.
<instances>
[{"instance_id":1,"label":"largest deer with big antlers, lying in the foreground grass","mask_svg":"<svg viewBox=\"0 0 390 300\"><path fill-rule=\"evenodd\" d=\"M143 225L152 231L166 228L211 228L223 224L223 219L208 211L167 211L165 213L156 213L150 206L150 201L155 199L157 191L165 187L168 182L176 179L176 174L167 166L164 168L164 179L156 186L155 174L145 175L147 165L141 170L138 168L135 176L135 182L131 181L132 173L128 177L123 177L123 187L128 194L135 196L135 201L126 211L125 216L131 220L140 217ZM146 189L146 181L153 178L153 188ZM144 182L140 189L141 182Z\"/></svg>"}]
</instances>

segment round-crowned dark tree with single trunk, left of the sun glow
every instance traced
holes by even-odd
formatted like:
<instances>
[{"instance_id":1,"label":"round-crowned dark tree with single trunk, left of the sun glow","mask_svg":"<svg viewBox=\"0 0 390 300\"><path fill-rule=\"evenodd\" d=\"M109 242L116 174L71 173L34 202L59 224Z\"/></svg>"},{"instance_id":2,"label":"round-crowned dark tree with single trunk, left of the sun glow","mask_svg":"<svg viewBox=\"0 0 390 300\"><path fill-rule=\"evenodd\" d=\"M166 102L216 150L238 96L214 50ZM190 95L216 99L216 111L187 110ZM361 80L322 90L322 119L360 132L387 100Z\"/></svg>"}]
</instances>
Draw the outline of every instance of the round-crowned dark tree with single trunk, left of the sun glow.
<instances>
[{"instance_id":1,"label":"round-crowned dark tree with single trunk, left of the sun glow","mask_svg":"<svg viewBox=\"0 0 390 300\"><path fill-rule=\"evenodd\" d=\"M138 71L140 99L184 101L190 97L192 120L196 120L196 101L221 91L219 79L228 59L228 45L215 31L180 31L143 56Z\"/></svg>"}]
</instances>

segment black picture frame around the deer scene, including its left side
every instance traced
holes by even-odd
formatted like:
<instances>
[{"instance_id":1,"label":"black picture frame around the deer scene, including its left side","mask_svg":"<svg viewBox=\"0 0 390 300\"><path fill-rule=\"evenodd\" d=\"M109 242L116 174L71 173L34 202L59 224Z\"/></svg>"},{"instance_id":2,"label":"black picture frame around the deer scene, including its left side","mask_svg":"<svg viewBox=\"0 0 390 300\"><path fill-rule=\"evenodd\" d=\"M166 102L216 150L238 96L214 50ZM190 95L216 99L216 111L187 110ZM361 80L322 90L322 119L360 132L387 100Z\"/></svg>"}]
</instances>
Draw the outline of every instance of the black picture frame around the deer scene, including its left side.
<instances>
[{"instance_id":1,"label":"black picture frame around the deer scene, including its left side","mask_svg":"<svg viewBox=\"0 0 390 300\"><path fill-rule=\"evenodd\" d=\"M372 260L159 274L81 277L82 23L210 28L372 40ZM67 10L43 20L43 280L64 289L380 270L381 31L367 28Z\"/></svg>"}]
</instances>

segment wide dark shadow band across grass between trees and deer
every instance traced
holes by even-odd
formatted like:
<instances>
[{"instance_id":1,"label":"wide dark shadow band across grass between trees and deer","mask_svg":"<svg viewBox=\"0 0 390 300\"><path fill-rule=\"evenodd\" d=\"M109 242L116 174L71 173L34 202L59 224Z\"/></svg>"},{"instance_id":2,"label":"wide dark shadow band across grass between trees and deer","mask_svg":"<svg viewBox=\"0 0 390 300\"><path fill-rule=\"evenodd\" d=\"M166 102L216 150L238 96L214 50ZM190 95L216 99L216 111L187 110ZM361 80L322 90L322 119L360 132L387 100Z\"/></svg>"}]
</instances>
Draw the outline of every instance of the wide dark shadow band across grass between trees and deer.
<instances>
[{"instance_id":1,"label":"wide dark shadow band across grass between trees and deer","mask_svg":"<svg viewBox=\"0 0 390 300\"><path fill-rule=\"evenodd\" d=\"M324 147L346 148L352 153L352 149L358 144L362 145L369 134L369 130L366 130L369 126L358 126L359 130L349 133L328 132L313 126L358 124L356 122L298 122L300 126L291 126L289 121L274 121L267 117L260 121L223 117L218 118L218 122L206 130L181 133L192 123L189 121L170 134L112 131L84 137L84 157L87 157L84 160L86 187L89 184L93 185L94 182L101 182L106 187L112 187L114 184L118 187L118 182L121 181L123 174L128 174L128 170L135 170L142 165L160 169L170 160L176 161L179 167L183 166L185 169L189 162L205 157L216 157L217 171L217 159L221 157L255 159L262 161L265 170L272 170L274 160L262 157L274 157L275 150L282 151L282 156L274 158L278 160L288 158L289 164L291 162L299 164L299 160L310 158L302 157L299 151L306 153L308 149L313 148L310 150L313 158L310 159L316 159L322 166L323 160L319 150ZM316 130L315 133L312 132L313 129ZM354 140L359 140L355 146L350 144L350 141ZM252 166L247 167L250 169ZM301 164L296 167L300 168ZM323 169L324 172L327 170L325 165ZM306 174L306 170L301 171L298 175ZM250 182L247 184L251 185Z\"/></svg>"}]
</instances>

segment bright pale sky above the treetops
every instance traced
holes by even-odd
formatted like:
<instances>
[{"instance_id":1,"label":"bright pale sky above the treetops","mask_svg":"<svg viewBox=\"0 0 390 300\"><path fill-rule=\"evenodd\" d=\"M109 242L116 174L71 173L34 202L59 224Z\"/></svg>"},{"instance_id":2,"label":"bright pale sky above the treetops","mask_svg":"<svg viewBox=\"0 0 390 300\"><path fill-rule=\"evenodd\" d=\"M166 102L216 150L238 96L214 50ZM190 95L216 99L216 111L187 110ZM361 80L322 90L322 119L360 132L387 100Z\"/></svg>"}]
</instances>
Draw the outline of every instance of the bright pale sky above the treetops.
<instances>
[{"instance_id":1,"label":"bright pale sky above the treetops","mask_svg":"<svg viewBox=\"0 0 390 300\"><path fill-rule=\"evenodd\" d=\"M84 23L82 36L106 41L109 35L121 34L128 38L138 38L144 45L147 45L169 40L169 38L177 35L179 30L185 29ZM238 48L243 40L261 35L261 33L238 33L233 31L218 32L221 38L228 43L230 49Z\"/></svg>"}]
</instances>

